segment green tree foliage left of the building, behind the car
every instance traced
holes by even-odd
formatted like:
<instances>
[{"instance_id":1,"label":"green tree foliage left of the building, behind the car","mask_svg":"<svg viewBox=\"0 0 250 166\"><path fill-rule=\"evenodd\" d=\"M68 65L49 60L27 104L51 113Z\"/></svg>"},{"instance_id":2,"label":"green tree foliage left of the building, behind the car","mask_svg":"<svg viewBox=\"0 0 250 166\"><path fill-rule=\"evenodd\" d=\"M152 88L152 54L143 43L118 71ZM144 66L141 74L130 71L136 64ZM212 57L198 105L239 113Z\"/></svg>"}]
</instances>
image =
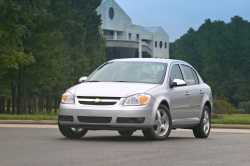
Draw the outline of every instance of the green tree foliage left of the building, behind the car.
<instances>
[{"instance_id":1,"label":"green tree foliage left of the building, behind the car","mask_svg":"<svg viewBox=\"0 0 250 166\"><path fill-rule=\"evenodd\" d=\"M58 97L105 61L101 0L1 0L0 96Z\"/></svg>"}]
</instances>

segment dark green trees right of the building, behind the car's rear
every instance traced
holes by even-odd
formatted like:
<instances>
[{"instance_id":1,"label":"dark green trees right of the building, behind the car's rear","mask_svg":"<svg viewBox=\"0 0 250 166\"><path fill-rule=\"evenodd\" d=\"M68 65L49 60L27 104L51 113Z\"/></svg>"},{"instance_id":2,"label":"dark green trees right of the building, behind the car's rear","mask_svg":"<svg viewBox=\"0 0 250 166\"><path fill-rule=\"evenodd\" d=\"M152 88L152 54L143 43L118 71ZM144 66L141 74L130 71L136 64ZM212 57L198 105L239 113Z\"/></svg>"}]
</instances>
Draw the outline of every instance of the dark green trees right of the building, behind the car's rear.
<instances>
[{"instance_id":1,"label":"dark green trees right of the building, behind the car's rear","mask_svg":"<svg viewBox=\"0 0 250 166\"><path fill-rule=\"evenodd\" d=\"M250 22L206 20L171 44L171 57L194 65L218 97L235 106L250 100Z\"/></svg>"}]
</instances>

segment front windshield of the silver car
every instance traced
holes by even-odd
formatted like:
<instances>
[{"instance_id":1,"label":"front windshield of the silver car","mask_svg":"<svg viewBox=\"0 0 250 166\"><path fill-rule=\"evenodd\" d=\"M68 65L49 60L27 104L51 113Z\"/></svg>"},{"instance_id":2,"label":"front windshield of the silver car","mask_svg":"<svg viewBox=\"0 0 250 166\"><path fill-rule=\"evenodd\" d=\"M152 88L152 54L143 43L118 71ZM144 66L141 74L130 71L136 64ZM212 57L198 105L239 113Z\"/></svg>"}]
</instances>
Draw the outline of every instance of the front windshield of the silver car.
<instances>
[{"instance_id":1,"label":"front windshield of the silver car","mask_svg":"<svg viewBox=\"0 0 250 166\"><path fill-rule=\"evenodd\" d=\"M159 62L109 62L90 75L87 82L161 84L167 64Z\"/></svg>"}]
</instances>

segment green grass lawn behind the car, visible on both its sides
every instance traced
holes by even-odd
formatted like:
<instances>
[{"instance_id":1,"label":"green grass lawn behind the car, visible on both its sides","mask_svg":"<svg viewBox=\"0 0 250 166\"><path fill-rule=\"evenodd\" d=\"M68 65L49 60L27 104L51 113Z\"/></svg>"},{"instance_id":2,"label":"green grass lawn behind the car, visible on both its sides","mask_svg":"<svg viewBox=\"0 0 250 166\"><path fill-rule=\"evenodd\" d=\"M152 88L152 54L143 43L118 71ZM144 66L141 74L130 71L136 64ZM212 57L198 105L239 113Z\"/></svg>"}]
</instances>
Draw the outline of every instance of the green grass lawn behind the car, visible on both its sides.
<instances>
[{"instance_id":1,"label":"green grass lawn behind the car, visible on both its sides","mask_svg":"<svg viewBox=\"0 0 250 166\"><path fill-rule=\"evenodd\" d=\"M33 115L10 115L0 114L0 120L57 120L56 114L33 114ZM250 114L215 115L213 124L248 124L250 125Z\"/></svg>"}]
</instances>

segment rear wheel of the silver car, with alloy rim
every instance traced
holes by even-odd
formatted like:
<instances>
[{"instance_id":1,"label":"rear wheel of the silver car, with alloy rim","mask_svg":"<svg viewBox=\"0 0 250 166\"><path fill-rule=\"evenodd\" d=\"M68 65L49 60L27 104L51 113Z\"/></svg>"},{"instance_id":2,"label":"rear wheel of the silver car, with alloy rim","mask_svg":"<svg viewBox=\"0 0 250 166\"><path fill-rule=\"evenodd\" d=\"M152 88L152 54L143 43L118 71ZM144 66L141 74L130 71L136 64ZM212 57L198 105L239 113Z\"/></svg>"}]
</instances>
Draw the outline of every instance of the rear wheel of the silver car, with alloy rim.
<instances>
[{"instance_id":1,"label":"rear wheel of the silver car, with alloy rim","mask_svg":"<svg viewBox=\"0 0 250 166\"><path fill-rule=\"evenodd\" d=\"M211 113L210 108L205 106L203 108L202 118L200 124L193 129L196 138L208 138L211 131Z\"/></svg>"}]
</instances>

